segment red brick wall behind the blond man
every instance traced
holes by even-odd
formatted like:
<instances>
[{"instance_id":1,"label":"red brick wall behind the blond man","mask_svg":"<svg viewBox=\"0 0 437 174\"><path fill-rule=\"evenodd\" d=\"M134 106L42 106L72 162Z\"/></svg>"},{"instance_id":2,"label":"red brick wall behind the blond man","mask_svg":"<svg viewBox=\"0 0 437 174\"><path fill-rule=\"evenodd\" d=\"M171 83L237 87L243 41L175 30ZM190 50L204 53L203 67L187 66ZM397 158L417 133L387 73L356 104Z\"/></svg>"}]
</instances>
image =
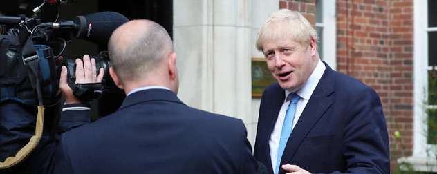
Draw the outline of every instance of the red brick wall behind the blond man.
<instances>
[{"instance_id":1,"label":"red brick wall behind the blond man","mask_svg":"<svg viewBox=\"0 0 437 174\"><path fill-rule=\"evenodd\" d=\"M281 0L315 24L315 0ZM337 71L351 75L380 95L393 151L413 149L413 0L337 0ZM395 147L394 131L400 131ZM396 149L396 151L394 151Z\"/></svg>"}]
</instances>

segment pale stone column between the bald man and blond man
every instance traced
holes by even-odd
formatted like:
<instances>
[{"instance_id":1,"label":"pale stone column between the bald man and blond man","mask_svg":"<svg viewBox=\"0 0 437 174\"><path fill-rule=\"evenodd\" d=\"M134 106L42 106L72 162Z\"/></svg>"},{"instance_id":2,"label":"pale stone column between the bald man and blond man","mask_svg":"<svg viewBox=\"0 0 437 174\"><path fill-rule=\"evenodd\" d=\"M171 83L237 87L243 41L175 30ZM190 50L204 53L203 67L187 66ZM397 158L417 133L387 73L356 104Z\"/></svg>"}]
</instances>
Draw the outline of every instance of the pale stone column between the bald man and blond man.
<instances>
[{"instance_id":1,"label":"pale stone column between the bald man and blond man","mask_svg":"<svg viewBox=\"0 0 437 174\"><path fill-rule=\"evenodd\" d=\"M252 113L252 106L259 108L259 101L252 102L250 60L261 24L253 26L252 21L257 17L256 21L262 22L272 12L263 10L266 7L263 5L270 4L268 7L277 10L279 1L173 3L173 36L180 77L178 97L194 108L243 119L253 144L258 112ZM252 5L257 7L255 12Z\"/></svg>"}]
</instances>

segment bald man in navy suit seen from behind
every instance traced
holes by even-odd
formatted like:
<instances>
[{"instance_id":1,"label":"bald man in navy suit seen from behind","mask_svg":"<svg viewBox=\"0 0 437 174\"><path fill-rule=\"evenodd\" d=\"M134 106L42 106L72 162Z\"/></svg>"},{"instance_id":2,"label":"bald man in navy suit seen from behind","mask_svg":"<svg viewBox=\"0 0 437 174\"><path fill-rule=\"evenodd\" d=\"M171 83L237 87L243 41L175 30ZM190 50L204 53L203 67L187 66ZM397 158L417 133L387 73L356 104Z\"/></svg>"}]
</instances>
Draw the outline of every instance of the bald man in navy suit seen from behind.
<instances>
[{"instance_id":1,"label":"bald man in navy suit seen from behind","mask_svg":"<svg viewBox=\"0 0 437 174\"><path fill-rule=\"evenodd\" d=\"M129 21L113 32L108 50L110 75L127 97L115 113L63 133L51 173L255 173L241 119L191 108L176 96L176 54L162 26ZM96 78L88 61L84 82ZM60 81L67 104L80 104L65 67Z\"/></svg>"}]
</instances>

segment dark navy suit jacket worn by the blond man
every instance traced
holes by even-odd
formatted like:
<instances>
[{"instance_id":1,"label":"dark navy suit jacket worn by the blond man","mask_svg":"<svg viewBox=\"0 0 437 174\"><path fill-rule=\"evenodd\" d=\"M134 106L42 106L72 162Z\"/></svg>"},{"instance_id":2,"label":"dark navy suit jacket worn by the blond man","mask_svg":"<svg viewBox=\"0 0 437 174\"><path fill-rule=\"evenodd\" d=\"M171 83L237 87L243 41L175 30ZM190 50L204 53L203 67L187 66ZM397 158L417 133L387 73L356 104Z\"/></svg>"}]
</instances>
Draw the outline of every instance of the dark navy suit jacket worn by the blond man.
<instances>
[{"instance_id":1,"label":"dark navy suit jacket worn by the blond man","mask_svg":"<svg viewBox=\"0 0 437 174\"><path fill-rule=\"evenodd\" d=\"M270 173L268 142L284 97L279 84L268 86L261 97L254 156ZM390 173L387 125L375 90L326 64L288 139L282 164L310 173Z\"/></svg>"}]
</instances>

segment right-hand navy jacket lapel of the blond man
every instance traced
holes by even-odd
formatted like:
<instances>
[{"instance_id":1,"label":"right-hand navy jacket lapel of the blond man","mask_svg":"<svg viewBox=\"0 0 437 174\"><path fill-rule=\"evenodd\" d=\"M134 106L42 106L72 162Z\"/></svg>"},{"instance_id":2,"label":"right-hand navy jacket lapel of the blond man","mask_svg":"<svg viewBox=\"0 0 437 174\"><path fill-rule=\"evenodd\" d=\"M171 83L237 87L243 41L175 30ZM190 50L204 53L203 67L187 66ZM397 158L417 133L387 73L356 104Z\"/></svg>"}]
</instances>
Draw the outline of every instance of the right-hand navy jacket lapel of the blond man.
<instances>
[{"instance_id":1,"label":"right-hand navy jacket lapel of the blond man","mask_svg":"<svg viewBox=\"0 0 437 174\"><path fill-rule=\"evenodd\" d=\"M329 106L331 106L332 99L330 98L330 95L334 93L334 81L335 72L326 64L326 70L322 79L320 79L319 84L317 84L317 87L308 100L308 104L306 104L290 138L288 138L285 151L282 155L281 164L287 164L292 161L297 149L306 135L308 135L320 117L322 117ZM282 168L279 168L279 173L283 173Z\"/></svg>"}]
</instances>

